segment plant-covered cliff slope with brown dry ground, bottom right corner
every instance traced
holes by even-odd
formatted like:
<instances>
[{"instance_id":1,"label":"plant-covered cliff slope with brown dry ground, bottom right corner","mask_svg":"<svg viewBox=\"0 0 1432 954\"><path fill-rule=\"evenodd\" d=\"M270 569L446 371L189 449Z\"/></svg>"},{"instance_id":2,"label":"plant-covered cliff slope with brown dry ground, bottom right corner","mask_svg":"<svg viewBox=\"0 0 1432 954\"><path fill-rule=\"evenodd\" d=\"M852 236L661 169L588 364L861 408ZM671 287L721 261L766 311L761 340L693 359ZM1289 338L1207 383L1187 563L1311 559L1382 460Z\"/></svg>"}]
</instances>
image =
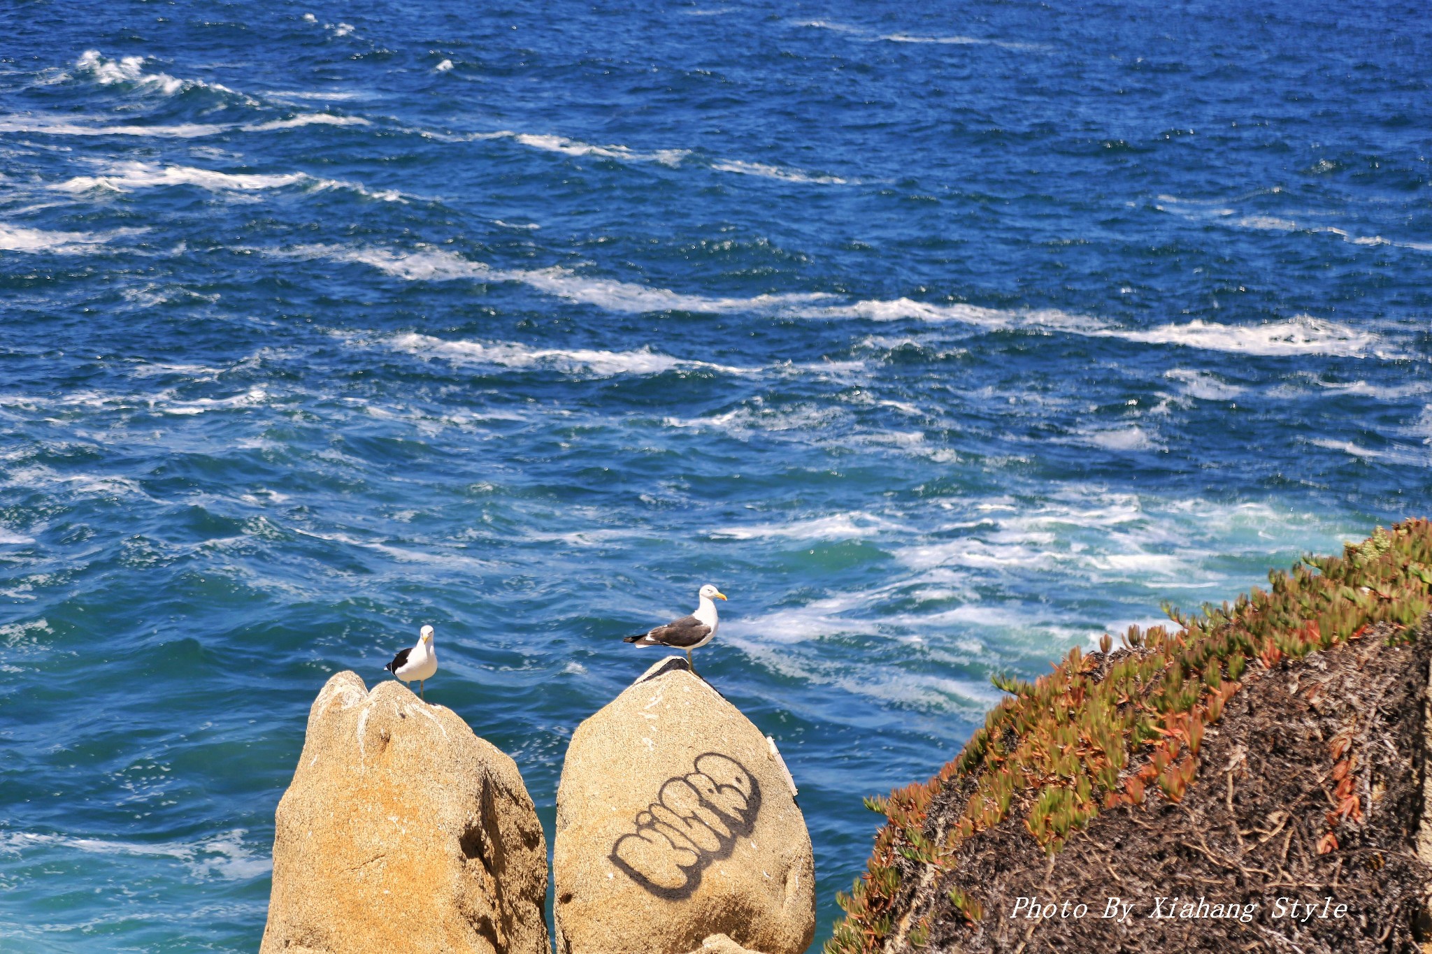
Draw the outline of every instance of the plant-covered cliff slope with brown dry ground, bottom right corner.
<instances>
[{"instance_id":1,"label":"plant-covered cliff slope with brown dry ground, bottom right corner","mask_svg":"<svg viewBox=\"0 0 1432 954\"><path fill-rule=\"evenodd\" d=\"M1073 649L885 811L828 954L1418 954L1432 523Z\"/></svg>"}]
</instances>

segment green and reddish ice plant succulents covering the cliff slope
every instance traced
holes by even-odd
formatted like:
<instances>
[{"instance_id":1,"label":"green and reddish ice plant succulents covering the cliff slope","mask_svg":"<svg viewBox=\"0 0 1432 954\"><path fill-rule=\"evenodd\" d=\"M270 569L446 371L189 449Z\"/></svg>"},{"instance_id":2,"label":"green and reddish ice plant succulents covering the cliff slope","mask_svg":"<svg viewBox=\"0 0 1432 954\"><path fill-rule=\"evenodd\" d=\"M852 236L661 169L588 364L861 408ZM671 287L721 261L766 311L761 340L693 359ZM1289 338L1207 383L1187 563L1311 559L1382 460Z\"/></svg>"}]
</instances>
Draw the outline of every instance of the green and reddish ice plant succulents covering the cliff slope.
<instances>
[{"instance_id":1,"label":"green and reddish ice plant succulents covering the cliff slope","mask_svg":"<svg viewBox=\"0 0 1432 954\"><path fill-rule=\"evenodd\" d=\"M988 712L954 761L928 782L865 800L886 824L865 875L839 895L846 915L826 954L881 950L895 927L901 858L948 868L961 842L1017 815L1053 854L1100 811L1137 807L1156 792L1180 801L1197 775L1206 727L1221 718L1249 667L1295 664L1379 622L1408 638L1432 611L1432 523L1378 528L1340 556L1305 556L1287 572L1272 571L1269 582L1269 591L1254 588L1199 614L1164 606L1177 626L1130 626L1120 651L1107 635L1101 652L1075 646L1034 682L994 677L1010 698ZM1337 741L1330 754L1335 775L1349 777L1355 757ZM928 830L934 797L947 784L969 781L959 815ZM1350 782L1337 794L1342 801L1327 815L1319 851L1336 850L1340 820L1360 817ZM969 921L982 917L978 901L962 892L955 908ZM908 940L916 935L911 931Z\"/></svg>"}]
</instances>

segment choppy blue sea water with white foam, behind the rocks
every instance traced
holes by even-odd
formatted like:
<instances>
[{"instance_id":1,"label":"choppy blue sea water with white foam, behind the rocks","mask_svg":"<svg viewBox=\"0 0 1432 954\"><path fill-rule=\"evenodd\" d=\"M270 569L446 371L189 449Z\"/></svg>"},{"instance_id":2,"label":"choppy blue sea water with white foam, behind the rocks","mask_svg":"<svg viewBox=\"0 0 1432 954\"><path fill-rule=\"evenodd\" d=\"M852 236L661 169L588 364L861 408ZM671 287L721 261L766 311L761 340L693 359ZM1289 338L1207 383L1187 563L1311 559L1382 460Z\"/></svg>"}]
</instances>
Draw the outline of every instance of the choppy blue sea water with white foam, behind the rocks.
<instances>
[{"instance_id":1,"label":"choppy blue sea water with white foam, behind the rocks","mask_svg":"<svg viewBox=\"0 0 1432 954\"><path fill-rule=\"evenodd\" d=\"M1413 3L0 10L0 948L252 951L329 674L424 622L548 838L700 672L818 943L1107 628L1426 513Z\"/></svg>"}]
</instances>

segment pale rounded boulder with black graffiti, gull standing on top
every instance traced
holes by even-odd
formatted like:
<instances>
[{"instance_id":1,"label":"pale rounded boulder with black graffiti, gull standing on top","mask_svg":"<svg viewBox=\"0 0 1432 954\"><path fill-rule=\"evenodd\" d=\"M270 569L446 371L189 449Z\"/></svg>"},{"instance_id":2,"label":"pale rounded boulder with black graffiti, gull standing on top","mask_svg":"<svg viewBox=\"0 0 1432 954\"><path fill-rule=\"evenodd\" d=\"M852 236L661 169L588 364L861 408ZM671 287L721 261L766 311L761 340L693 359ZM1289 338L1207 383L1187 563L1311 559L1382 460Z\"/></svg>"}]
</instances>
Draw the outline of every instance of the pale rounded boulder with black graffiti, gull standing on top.
<instances>
[{"instance_id":1,"label":"pale rounded boulder with black graffiti, gull standing on top","mask_svg":"<svg viewBox=\"0 0 1432 954\"><path fill-rule=\"evenodd\" d=\"M717 951L805 951L815 862L788 778L684 658L647 669L567 748L557 954L687 954L712 935L732 945Z\"/></svg>"}]
</instances>

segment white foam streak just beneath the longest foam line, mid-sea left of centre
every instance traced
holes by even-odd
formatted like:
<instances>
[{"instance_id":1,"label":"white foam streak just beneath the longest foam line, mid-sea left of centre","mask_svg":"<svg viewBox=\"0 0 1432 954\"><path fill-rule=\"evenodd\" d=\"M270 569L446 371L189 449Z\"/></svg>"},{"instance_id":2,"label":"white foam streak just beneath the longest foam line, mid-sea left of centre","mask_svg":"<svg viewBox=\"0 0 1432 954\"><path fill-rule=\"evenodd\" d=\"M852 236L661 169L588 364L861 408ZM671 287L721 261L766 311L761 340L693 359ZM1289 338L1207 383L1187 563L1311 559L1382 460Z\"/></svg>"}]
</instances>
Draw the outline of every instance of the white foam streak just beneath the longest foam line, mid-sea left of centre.
<instances>
[{"instance_id":1,"label":"white foam streak just beneath the longest foam line, mid-sea left of centre","mask_svg":"<svg viewBox=\"0 0 1432 954\"><path fill-rule=\"evenodd\" d=\"M453 363L500 368L556 368L564 372L611 375L660 375L676 369L710 369L745 375L756 369L732 368L705 360L687 360L650 349L610 352L599 349L530 348L517 342L445 340L431 335L394 335L388 345L412 355L441 358Z\"/></svg>"}]
</instances>

